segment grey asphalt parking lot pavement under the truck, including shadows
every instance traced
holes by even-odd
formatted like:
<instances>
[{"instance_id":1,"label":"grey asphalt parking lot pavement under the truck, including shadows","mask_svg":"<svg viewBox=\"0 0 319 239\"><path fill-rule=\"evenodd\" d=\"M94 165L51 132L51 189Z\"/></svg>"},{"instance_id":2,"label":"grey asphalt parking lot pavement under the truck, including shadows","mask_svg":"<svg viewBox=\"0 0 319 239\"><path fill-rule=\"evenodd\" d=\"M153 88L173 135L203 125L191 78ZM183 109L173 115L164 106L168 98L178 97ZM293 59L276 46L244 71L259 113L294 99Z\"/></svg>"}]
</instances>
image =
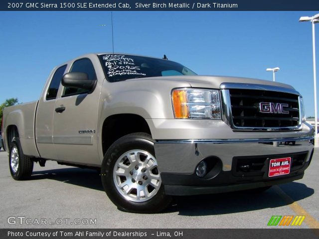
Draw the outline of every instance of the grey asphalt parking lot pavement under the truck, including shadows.
<instances>
[{"instance_id":1,"label":"grey asphalt parking lot pavement under the truck, including shadows","mask_svg":"<svg viewBox=\"0 0 319 239\"><path fill-rule=\"evenodd\" d=\"M7 152L1 150L0 228L269 228L273 215L305 216L298 228L319 228L318 159L317 149L302 180L261 194L175 197L166 211L139 215L114 206L95 170L47 161L45 167L34 164L31 180L14 181ZM47 224L39 226L36 222L41 219ZM82 224L75 224L75 219ZM83 219L92 219L93 225Z\"/></svg>"}]
</instances>

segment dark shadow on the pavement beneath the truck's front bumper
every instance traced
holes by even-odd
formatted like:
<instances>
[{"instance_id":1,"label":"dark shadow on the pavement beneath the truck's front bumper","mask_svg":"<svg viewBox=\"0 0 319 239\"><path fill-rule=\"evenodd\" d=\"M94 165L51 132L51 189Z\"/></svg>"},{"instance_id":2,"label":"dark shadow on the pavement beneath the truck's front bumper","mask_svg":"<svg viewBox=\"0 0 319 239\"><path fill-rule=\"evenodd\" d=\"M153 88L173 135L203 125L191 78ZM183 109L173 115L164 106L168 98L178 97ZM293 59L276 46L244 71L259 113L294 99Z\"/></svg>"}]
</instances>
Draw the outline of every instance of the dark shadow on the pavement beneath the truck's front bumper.
<instances>
[{"instance_id":1,"label":"dark shadow on the pavement beneath the truck's front bumper","mask_svg":"<svg viewBox=\"0 0 319 239\"><path fill-rule=\"evenodd\" d=\"M280 189L288 196L282 198L273 186L262 193L238 191L222 194L175 197L175 205L168 210L178 211L183 216L222 215L240 212L277 208L290 205L314 194L314 189L303 183L291 182L280 185ZM279 189L279 190L280 190Z\"/></svg>"}]
</instances>

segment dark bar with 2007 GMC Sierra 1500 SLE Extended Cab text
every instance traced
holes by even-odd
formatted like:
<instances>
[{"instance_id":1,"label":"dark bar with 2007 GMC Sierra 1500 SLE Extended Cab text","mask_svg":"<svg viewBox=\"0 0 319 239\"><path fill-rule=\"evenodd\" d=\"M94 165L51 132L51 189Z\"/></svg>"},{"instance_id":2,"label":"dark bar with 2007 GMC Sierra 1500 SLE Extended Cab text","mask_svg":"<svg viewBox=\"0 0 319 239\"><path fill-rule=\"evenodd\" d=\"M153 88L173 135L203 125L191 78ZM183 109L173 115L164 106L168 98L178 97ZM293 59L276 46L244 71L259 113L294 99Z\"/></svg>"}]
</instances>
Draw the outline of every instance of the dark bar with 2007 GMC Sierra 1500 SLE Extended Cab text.
<instances>
[{"instance_id":1,"label":"dark bar with 2007 GMC Sierra 1500 SLE Extended Cab text","mask_svg":"<svg viewBox=\"0 0 319 239\"><path fill-rule=\"evenodd\" d=\"M1 11L318 11L319 0L7 0Z\"/></svg>"}]
</instances>

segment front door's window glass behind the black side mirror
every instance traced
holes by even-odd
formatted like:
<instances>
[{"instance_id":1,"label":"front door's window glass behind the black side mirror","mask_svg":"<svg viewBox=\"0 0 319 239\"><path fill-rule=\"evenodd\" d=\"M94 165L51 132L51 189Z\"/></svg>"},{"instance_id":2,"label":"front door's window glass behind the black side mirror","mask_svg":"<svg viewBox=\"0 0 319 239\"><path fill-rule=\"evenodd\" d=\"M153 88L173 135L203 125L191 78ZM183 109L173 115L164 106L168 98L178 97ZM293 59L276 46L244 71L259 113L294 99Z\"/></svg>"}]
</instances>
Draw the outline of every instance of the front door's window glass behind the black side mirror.
<instances>
[{"instance_id":1,"label":"front door's window glass behind the black side mirror","mask_svg":"<svg viewBox=\"0 0 319 239\"><path fill-rule=\"evenodd\" d=\"M93 64L88 58L83 58L83 59L75 61L71 67L70 72L83 72L88 74L89 80L97 79ZM86 89L81 89L81 88L75 89L75 88L66 87L64 89L63 96L78 95L78 94L83 94L88 92L89 91Z\"/></svg>"}]
</instances>

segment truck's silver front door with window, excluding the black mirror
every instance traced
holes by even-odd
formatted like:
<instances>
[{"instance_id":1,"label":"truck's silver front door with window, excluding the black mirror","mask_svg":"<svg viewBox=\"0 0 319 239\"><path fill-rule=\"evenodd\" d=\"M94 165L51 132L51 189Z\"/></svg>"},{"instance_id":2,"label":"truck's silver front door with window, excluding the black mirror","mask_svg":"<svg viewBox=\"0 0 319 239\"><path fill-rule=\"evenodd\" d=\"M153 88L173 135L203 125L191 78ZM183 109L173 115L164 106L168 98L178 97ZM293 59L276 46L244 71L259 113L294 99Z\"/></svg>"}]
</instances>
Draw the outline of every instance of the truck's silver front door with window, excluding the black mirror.
<instances>
[{"instance_id":1,"label":"truck's silver front door with window, excluding the black mirror","mask_svg":"<svg viewBox=\"0 0 319 239\"><path fill-rule=\"evenodd\" d=\"M81 58L73 62L69 72L86 73L89 80L98 81L96 67L91 59ZM97 153L99 95L98 87L93 90L62 89L55 104L53 127L59 161L91 166L101 164Z\"/></svg>"}]
</instances>

